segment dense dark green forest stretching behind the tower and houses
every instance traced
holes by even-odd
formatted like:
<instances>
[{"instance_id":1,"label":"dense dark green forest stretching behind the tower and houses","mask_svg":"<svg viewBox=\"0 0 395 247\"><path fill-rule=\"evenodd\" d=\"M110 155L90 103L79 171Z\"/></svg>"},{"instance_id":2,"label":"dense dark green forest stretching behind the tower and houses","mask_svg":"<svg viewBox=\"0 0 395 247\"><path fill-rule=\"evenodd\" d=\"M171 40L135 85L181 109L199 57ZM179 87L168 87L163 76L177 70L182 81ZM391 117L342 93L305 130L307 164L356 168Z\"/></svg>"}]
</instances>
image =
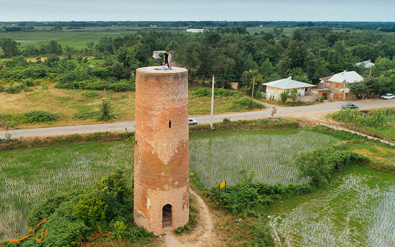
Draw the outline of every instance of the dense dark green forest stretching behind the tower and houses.
<instances>
[{"instance_id":1,"label":"dense dark green forest stretching behind the tower and houses","mask_svg":"<svg viewBox=\"0 0 395 247\"><path fill-rule=\"evenodd\" d=\"M16 41L1 39L2 56L10 59L0 62L0 90L15 92L51 82L58 88L133 90L134 71L159 65L151 57L154 50L170 50L178 66L189 70L190 80L215 74L223 82L217 84L224 87L236 81L250 90L252 76L256 82L292 76L316 84L322 77L356 70L366 79L354 88L358 94L394 92L394 38L392 34L334 32L329 27L299 28L293 36L283 35L281 28L250 34L245 27L218 27L196 35L139 31L124 37L104 36L97 43L88 42L84 49L50 41L22 51ZM87 57L100 62L89 64ZM365 60L376 64L371 78L369 70L355 67Z\"/></svg>"}]
</instances>

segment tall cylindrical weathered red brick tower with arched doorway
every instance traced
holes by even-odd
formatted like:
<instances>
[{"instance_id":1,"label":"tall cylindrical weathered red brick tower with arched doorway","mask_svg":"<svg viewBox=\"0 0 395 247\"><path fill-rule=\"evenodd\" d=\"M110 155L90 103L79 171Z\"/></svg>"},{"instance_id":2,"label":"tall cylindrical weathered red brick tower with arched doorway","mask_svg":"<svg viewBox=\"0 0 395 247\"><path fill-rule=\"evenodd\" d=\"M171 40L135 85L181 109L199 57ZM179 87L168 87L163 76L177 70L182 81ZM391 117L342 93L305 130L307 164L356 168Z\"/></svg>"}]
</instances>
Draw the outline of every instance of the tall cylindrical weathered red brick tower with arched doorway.
<instances>
[{"instance_id":1,"label":"tall cylindrical weathered red brick tower with arched doorway","mask_svg":"<svg viewBox=\"0 0 395 247\"><path fill-rule=\"evenodd\" d=\"M155 234L189 216L188 71L136 70L134 222Z\"/></svg>"}]
</instances>

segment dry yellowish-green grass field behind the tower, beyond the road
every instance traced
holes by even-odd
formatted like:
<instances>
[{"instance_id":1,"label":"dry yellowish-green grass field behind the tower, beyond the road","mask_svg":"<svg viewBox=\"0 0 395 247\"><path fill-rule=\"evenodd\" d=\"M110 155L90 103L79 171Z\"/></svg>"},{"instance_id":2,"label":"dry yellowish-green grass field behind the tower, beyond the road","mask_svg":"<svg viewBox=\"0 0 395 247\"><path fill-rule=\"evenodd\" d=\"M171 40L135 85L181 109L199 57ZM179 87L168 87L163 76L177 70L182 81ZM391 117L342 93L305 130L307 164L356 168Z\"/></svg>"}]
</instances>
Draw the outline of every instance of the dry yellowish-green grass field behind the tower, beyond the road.
<instances>
[{"instance_id":1,"label":"dry yellowish-green grass field behind the tower, beyond the road","mask_svg":"<svg viewBox=\"0 0 395 247\"><path fill-rule=\"evenodd\" d=\"M23 113L30 110L43 110L59 113L60 119L54 124L17 125L17 128L35 128L47 126L70 126L80 124L96 124L99 109L104 99L104 91L57 89L53 84L48 90L41 86L33 87L34 91L8 94L0 92L0 113ZM214 99L214 113L247 111L235 109L234 97ZM107 100L112 103L113 113L119 122L134 121L134 91L107 91ZM189 116L210 114L211 98L189 96ZM261 109L262 110L262 109ZM9 123L11 124L11 123ZM12 124L11 124L11 127Z\"/></svg>"}]
</instances>

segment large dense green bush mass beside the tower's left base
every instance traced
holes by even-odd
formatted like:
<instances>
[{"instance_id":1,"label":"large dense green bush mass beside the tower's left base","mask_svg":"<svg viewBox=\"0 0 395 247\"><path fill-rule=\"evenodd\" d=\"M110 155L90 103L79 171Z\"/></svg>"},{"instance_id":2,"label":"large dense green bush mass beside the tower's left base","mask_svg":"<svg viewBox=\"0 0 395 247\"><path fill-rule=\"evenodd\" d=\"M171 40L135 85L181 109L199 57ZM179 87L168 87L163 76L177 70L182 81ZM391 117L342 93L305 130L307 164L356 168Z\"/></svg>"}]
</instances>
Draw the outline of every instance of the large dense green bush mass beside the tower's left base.
<instances>
[{"instance_id":1,"label":"large dense green bush mass beside the tower's left base","mask_svg":"<svg viewBox=\"0 0 395 247\"><path fill-rule=\"evenodd\" d=\"M35 226L44 218L47 220L41 227L48 229L45 241L37 243L36 238L28 238L22 243L24 247L79 246L98 228L113 231L118 240L125 238L131 242L153 236L143 228L125 223L133 222L133 190L120 169L85 190L59 193L42 201L29 213L27 222Z\"/></svg>"}]
</instances>

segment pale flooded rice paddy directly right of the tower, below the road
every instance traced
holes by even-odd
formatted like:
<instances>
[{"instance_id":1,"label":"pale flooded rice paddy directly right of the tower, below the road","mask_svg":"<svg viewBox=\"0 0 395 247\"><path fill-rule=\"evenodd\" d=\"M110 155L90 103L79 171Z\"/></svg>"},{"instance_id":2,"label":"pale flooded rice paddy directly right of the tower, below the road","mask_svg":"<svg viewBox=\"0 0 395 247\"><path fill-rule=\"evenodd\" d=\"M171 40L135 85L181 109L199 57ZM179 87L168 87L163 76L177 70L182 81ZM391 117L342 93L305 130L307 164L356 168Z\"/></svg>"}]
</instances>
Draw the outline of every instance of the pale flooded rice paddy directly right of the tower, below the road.
<instances>
[{"instance_id":1,"label":"pale flooded rice paddy directly right of the tower, below the road","mask_svg":"<svg viewBox=\"0 0 395 247\"><path fill-rule=\"evenodd\" d=\"M286 131L286 130L283 130ZM338 142L331 136L301 130L290 134L244 134L202 138L190 142L190 167L206 187L239 180L237 170L256 171L263 183L300 183L293 152L305 152Z\"/></svg>"}]
</instances>

